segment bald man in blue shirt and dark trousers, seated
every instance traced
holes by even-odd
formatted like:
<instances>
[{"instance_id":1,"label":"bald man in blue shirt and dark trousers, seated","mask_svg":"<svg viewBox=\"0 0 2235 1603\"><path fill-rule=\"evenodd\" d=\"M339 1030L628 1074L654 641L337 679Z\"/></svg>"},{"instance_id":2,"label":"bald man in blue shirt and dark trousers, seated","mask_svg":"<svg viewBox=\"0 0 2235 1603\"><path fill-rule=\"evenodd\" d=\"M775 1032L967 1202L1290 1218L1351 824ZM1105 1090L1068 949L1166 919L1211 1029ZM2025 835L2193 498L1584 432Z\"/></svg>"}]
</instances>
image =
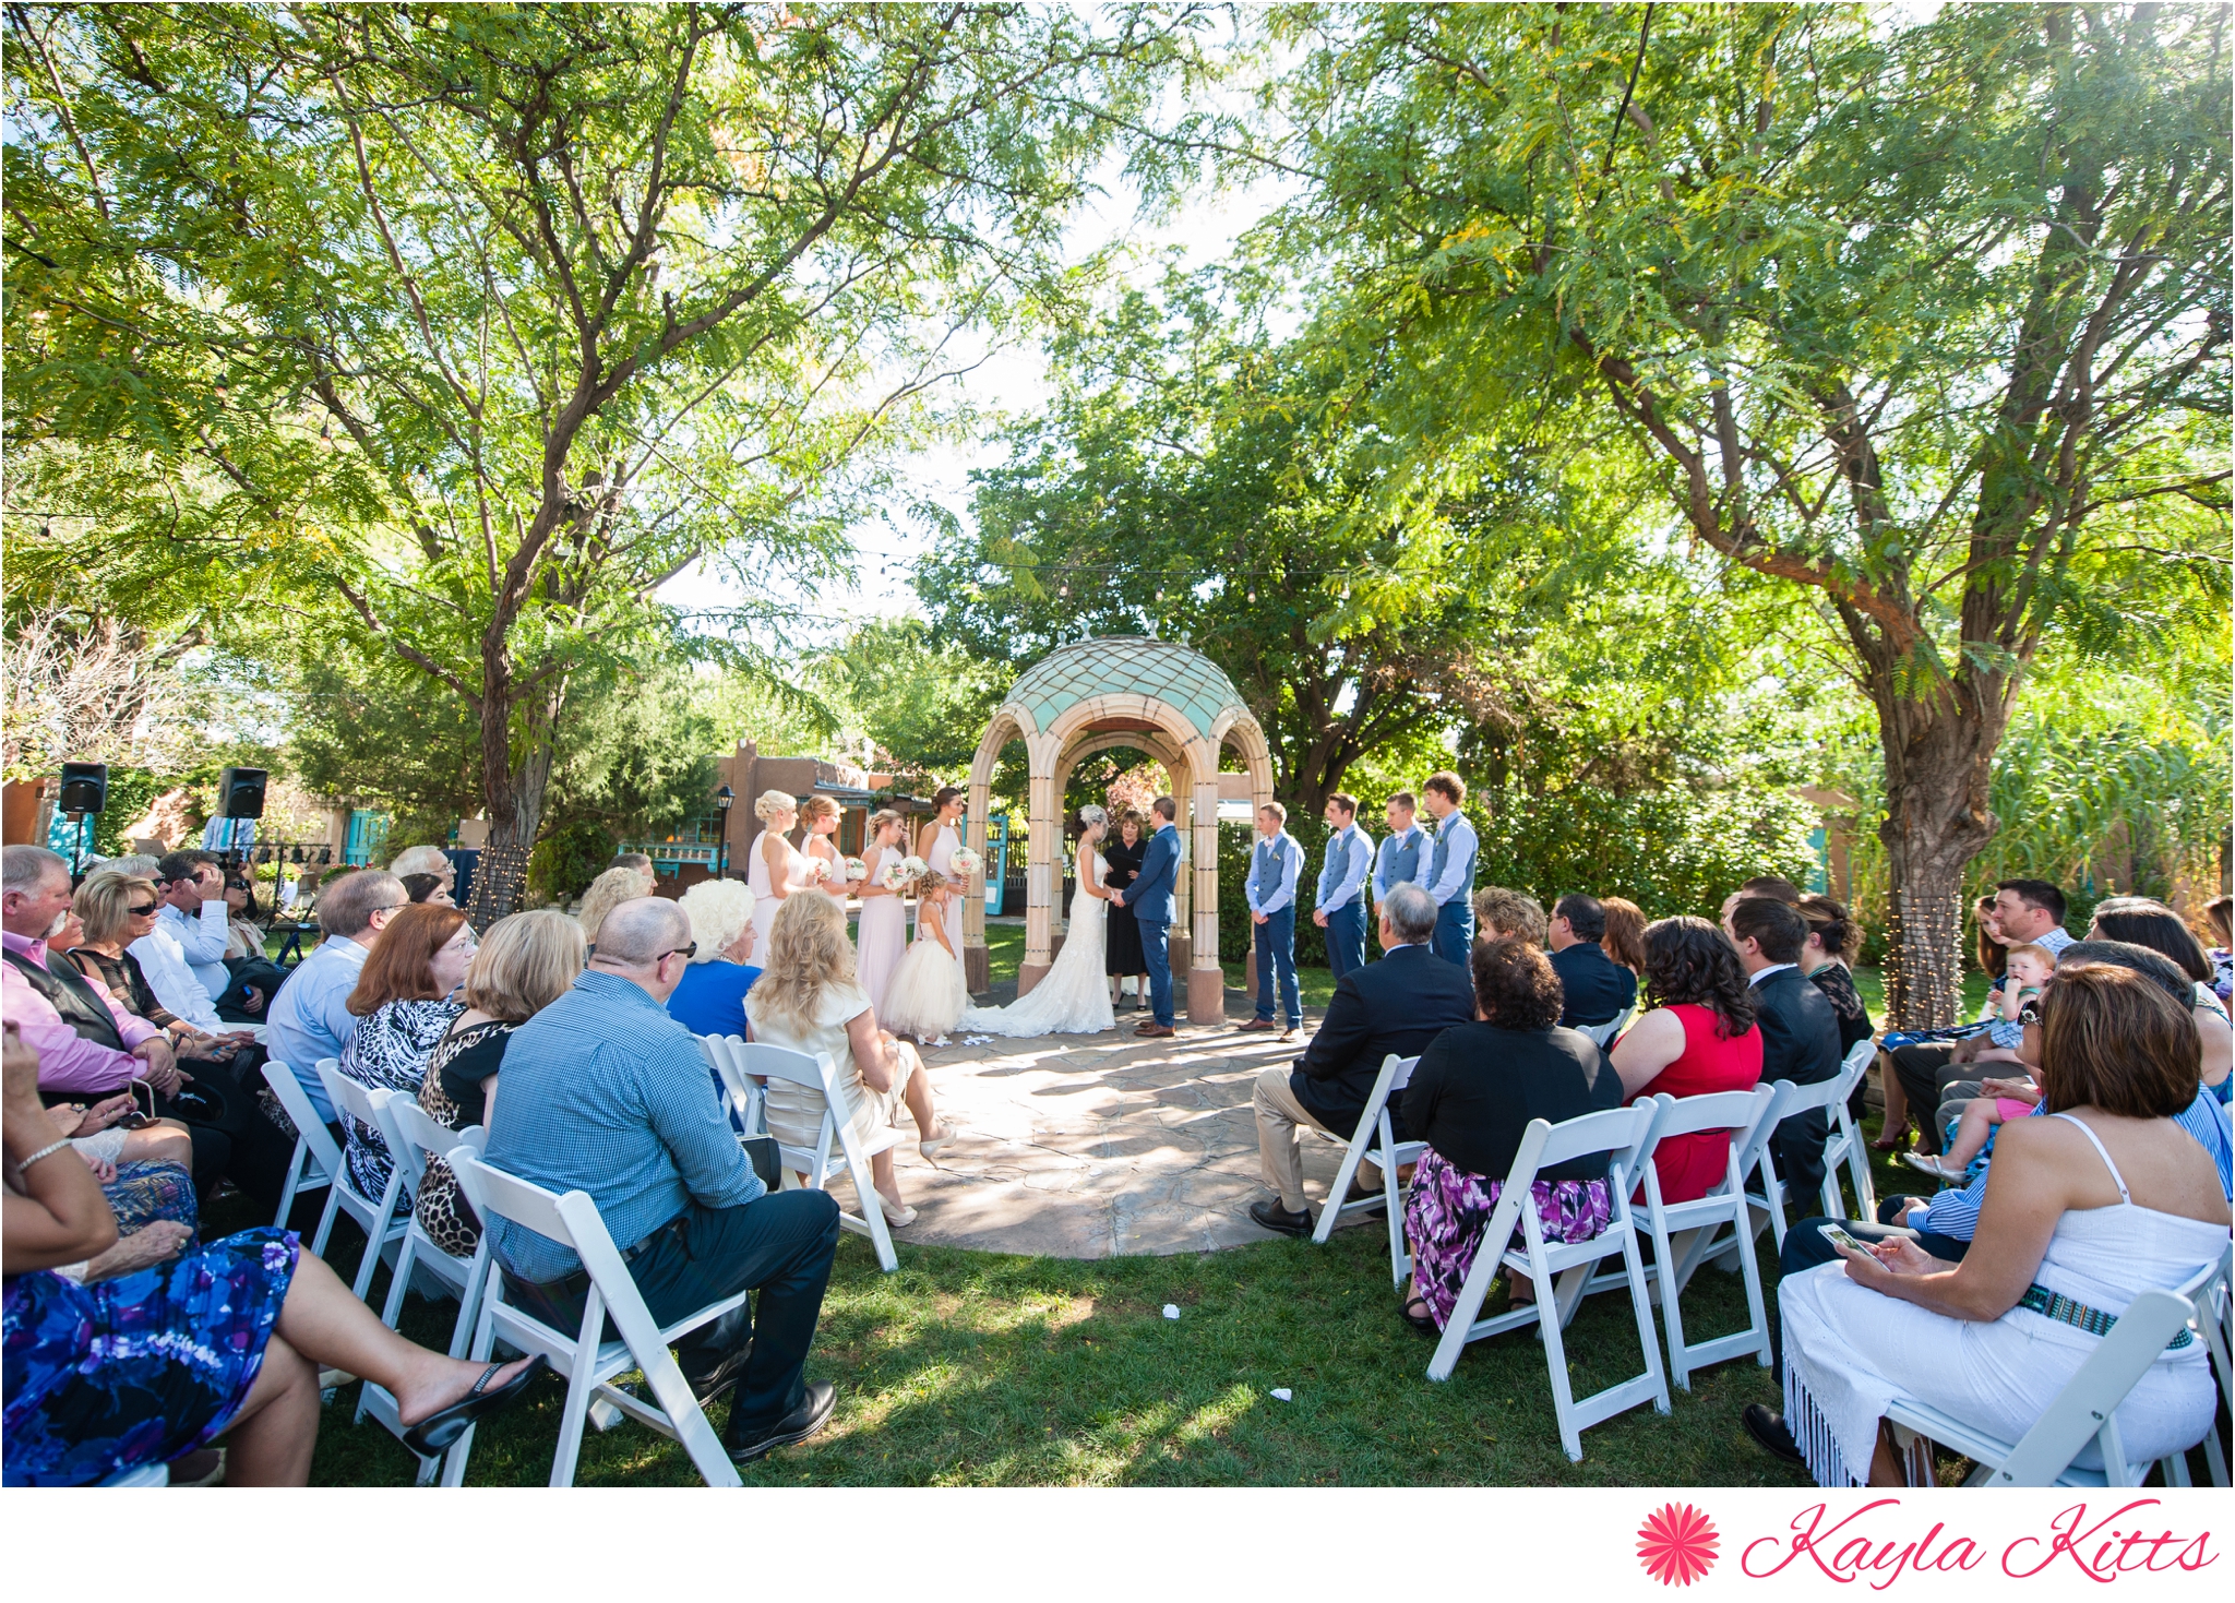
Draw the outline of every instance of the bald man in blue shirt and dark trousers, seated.
<instances>
[{"instance_id":1,"label":"bald man in blue shirt and dark trousers, seated","mask_svg":"<svg viewBox=\"0 0 2235 1603\"><path fill-rule=\"evenodd\" d=\"M800 905L843 917L822 897ZM624 901L599 932L588 973L505 1046L487 1158L548 1192L588 1192L662 1326L760 1292L751 1315L740 1306L677 1350L702 1404L738 1388L722 1447L746 1462L829 1420L836 1393L809 1386L802 1370L838 1248L838 1203L814 1189L771 1194L744 1160L706 1060L664 1008L691 946L675 903ZM510 1294L561 1330L579 1328L590 1286L581 1259L505 1221L492 1221L489 1236Z\"/></svg>"}]
</instances>

